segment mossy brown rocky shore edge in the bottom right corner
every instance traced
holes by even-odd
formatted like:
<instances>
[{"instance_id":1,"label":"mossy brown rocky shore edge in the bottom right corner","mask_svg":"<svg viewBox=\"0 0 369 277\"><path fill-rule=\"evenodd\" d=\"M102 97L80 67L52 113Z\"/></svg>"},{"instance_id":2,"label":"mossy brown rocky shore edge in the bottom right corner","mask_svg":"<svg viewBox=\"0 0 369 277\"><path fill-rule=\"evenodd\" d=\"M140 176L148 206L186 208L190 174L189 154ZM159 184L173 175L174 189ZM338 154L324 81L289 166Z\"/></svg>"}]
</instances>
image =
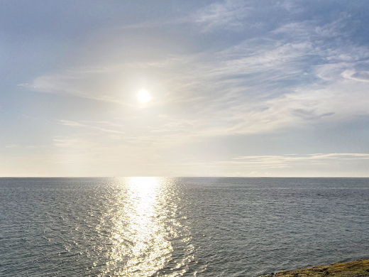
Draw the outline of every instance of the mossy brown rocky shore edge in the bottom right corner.
<instances>
[{"instance_id":1,"label":"mossy brown rocky shore edge in the bottom right corner","mask_svg":"<svg viewBox=\"0 0 369 277\"><path fill-rule=\"evenodd\" d=\"M366 277L369 276L369 260L348 261L329 266L313 266L292 271L279 271L263 277Z\"/></svg>"}]
</instances>

